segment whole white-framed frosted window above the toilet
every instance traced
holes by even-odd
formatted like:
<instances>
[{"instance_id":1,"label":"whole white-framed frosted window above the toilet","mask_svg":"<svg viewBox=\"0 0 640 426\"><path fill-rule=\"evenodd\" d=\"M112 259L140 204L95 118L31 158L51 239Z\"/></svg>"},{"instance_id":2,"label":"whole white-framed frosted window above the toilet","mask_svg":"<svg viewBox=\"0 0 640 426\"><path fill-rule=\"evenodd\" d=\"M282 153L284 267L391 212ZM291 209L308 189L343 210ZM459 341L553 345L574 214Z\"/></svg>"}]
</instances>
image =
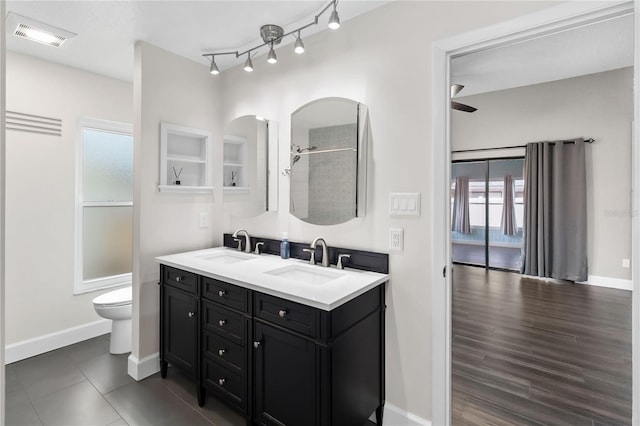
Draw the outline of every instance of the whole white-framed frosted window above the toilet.
<instances>
[{"instance_id":1,"label":"whole white-framed frosted window above the toilet","mask_svg":"<svg viewBox=\"0 0 640 426\"><path fill-rule=\"evenodd\" d=\"M127 124L80 121L76 294L131 283L132 130Z\"/></svg>"}]
</instances>

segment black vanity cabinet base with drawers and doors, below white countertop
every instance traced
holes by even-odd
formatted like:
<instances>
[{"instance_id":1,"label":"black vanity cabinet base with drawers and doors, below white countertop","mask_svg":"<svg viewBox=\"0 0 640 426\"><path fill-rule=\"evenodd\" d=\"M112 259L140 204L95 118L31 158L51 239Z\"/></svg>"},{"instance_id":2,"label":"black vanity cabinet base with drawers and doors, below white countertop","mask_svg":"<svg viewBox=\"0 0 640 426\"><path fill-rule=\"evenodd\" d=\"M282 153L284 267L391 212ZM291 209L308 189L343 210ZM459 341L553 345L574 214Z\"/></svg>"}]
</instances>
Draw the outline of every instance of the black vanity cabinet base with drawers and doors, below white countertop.
<instances>
[{"instance_id":1,"label":"black vanity cabinet base with drawers and doors, below white countertop","mask_svg":"<svg viewBox=\"0 0 640 426\"><path fill-rule=\"evenodd\" d=\"M384 284L332 311L161 266L167 363L263 426L361 426L384 405Z\"/></svg>"}]
</instances>

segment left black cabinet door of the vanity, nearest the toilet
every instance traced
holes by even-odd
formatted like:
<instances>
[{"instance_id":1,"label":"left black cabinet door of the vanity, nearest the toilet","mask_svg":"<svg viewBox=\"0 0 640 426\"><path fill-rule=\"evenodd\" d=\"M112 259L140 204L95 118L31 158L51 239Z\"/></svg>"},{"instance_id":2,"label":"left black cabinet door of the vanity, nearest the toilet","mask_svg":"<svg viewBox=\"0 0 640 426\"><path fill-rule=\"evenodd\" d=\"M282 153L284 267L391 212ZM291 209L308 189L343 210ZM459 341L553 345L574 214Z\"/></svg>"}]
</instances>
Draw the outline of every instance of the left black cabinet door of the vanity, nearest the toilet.
<instances>
[{"instance_id":1,"label":"left black cabinet door of the vanity, nearest the toilet","mask_svg":"<svg viewBox=\"0 0 640 426\"><path fill-rule=\"evenodd\" d=\"M198 349L198 315L194 296L169 286L163 292L164 361L196 378Z\"/></svg>"}]
</instances>

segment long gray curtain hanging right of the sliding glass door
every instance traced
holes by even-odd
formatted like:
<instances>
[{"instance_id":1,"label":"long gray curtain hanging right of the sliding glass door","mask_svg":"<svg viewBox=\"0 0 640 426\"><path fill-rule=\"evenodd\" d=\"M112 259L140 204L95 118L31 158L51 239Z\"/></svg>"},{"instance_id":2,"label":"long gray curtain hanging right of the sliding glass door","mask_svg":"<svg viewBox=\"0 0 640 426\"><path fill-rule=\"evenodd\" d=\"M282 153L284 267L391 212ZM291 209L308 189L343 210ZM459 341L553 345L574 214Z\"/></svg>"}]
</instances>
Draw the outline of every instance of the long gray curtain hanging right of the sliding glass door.
<instances>
[{"instance_id":1,"label":"long gray curtain hanging right of the sliding glass door","mask_svg":"<svg viewBox=\"0 0 640 426\"><path fill-rule=\"evenodd\" d=\"M527 145L524 221L522 273L587 279L584 140Z\"/></svg>"}]
</instances>

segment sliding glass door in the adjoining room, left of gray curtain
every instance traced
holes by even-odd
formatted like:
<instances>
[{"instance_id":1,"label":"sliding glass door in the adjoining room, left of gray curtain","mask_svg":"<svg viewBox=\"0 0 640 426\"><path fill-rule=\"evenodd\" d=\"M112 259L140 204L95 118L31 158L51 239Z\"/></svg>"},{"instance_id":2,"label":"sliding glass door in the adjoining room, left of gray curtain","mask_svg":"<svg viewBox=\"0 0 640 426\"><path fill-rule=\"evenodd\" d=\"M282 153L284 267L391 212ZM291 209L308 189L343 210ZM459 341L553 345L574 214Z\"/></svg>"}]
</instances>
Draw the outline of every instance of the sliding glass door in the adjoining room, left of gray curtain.
<instances>
[{"instance_id":1,"label":"sliding glass door in the adjoining room, left of gray curtain","mask_svg":"<svg viewBox=\"0 0 640 426\"><path fill-rule=\"evenodd\" d=\"M522 263L524 158L454 161L451 260L517 271Z\"/></svg>"}]
</instances>

